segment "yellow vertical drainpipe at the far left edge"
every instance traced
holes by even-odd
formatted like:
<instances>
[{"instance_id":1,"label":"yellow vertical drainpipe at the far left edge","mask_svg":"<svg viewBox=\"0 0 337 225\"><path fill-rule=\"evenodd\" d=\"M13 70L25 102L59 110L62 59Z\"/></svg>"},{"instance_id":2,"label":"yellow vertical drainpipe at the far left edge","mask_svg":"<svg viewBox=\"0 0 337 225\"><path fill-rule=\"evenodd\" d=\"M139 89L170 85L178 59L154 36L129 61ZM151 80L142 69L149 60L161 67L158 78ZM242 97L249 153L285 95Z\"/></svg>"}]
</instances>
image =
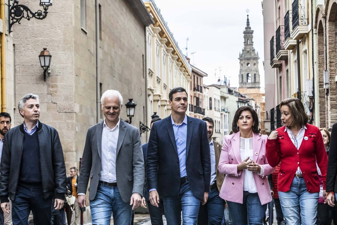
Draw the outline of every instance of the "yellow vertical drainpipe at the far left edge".
<instances>
[{"instance_id":1,"label":"yellow vertical drainpipe at the far left edge","mask_svg":"<svg viewBox=\"0 0 337 225\"><path fill-rule=\"evenodd\" d=\"M1 34L1 111L6 112L6 30L5 30L5 0L0 0L0 18L3 24L3 33Z\"/></svg>"}]
</instances>

